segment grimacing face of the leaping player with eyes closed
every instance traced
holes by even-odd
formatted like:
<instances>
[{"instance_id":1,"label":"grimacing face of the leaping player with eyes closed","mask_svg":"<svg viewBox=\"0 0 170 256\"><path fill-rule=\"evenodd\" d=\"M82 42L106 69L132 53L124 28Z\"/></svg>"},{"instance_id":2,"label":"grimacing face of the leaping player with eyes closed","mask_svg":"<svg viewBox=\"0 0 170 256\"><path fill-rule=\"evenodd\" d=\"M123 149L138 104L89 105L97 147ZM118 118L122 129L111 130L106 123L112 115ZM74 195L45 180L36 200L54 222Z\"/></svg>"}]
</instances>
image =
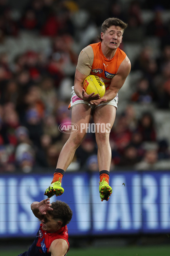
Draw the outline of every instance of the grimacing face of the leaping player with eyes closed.
<instances>
[{"instance_id":1,"label":"grimacing face of the leaping player with eyes closed","mask_svg":"<svg viewBox=\"0 0 170 256\"><path fill-rule=\"evenodd\" d=\"M123 30L119 26L110 26L105 33L101 32L102 44L110 49L117 49L122 42Z\"/></svg>"}]
</instances>

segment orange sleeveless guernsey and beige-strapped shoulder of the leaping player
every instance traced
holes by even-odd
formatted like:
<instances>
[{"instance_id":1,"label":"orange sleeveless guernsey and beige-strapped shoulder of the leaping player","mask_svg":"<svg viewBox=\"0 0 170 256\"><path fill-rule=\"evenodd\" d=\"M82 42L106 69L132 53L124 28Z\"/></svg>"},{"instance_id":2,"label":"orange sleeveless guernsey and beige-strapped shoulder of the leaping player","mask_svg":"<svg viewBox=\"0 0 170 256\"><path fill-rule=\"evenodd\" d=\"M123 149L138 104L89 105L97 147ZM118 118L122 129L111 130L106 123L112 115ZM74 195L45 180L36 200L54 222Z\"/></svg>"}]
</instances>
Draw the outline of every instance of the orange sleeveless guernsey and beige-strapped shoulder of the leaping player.
<instances>
[{"instance_id":1,"label":"orange sleeveless guernsey and beige-strapped shoulder of the leaping player","mask_svg":"<svg viewBox=\"0 0 170 256\"><path fill-rule=\"evenodd\" d=\"M92 74L101 77L107 90L111 79L117 73L120 64L125 58L126 53L117 48L114 57L108 60L102 53L101 42L90 44L81 51L76 69L87 76ZM91 71L87 65L92 66Z\"/></svg>"}]
</instances>

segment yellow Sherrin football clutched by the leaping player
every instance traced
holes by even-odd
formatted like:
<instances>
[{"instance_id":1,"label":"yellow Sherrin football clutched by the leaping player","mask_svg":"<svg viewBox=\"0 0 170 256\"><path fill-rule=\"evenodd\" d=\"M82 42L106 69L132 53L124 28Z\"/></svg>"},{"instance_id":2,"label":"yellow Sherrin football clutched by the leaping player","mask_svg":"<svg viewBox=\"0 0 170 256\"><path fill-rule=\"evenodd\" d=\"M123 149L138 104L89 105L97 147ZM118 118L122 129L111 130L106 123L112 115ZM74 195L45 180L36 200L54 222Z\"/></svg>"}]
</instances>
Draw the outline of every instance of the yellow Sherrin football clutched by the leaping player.
<instances>
[{"instance_id":1,"label":"yellow Sherrin football clutched by the leaping player","mask_svg":"<svg viewBox=\"0 0 170 256\"><path fill-rule=\"evenodd\" d=\"M89 95L91 93L99 94L100 98L105 94L105 84L100 77L95 75L89 75L84 79L83 88Z\"/></svg>"}]
</instances>

